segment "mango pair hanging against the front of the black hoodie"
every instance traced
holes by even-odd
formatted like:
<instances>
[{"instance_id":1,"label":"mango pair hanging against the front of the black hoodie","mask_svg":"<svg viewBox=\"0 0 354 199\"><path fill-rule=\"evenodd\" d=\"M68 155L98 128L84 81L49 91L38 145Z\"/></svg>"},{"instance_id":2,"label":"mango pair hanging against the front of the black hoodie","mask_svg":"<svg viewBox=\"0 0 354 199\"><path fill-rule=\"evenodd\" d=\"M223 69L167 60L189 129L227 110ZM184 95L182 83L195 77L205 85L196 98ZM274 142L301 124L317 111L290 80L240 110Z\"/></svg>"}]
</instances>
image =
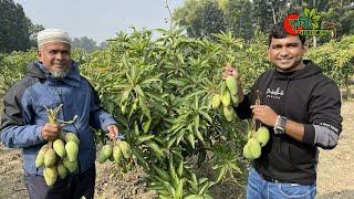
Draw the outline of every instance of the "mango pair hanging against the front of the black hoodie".
<instances>
[{"instance_id":1,"label":"mango pair hanging against the front of the black hoodie","mask_svg":"<svg viewBox=\"0 0 354 199\"><path fill-rule=\"evenodd\" d=\"M269 137L269 130L264 126L261 126L258 130L249 130L248 142L243 147L243 156L248 159L259 158L262 153L261 147L267 145Z\"/></svg>"}]
</instances>

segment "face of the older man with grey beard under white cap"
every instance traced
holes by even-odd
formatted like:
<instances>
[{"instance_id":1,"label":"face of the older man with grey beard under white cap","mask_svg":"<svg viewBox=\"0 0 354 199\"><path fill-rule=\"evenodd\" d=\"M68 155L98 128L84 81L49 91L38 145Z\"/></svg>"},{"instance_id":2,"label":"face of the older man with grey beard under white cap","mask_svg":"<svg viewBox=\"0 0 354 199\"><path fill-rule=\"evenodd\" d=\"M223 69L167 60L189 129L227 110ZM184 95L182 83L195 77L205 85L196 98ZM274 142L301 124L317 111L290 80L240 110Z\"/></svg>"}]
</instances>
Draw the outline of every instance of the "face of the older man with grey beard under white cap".
<instances>
[{"instance_id":1,"label":"face of the older man with grey beard under white cap","mask_svg":"<svg viewBox=\"0 0 354 199\"><path fill-rule=\"evenodd\" d=\"M71 46L63 42L44 43L39 49L38 56L53 77L64 77L70 69Z\"/></svg>"}]
</instances>

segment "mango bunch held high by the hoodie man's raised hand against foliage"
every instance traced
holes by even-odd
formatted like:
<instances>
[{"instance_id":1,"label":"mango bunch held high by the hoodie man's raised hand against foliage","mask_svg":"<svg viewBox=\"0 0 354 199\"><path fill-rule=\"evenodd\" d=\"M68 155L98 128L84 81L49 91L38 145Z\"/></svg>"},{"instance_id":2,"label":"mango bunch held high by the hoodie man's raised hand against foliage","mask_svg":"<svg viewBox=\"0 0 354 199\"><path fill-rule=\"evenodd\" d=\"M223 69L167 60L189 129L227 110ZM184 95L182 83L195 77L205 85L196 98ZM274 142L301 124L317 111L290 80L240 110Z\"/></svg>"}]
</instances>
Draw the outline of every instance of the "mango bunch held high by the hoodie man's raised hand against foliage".
<instances>
[{"instance_id":1,"label":"mango bunch held high by the hoodie man's raised hand against foliage","mask_svg":"<svg viewBox=\"0 0 354 199\"><path fill-rule=\"evenodd\" d=\"M221 82L221 93L214 95L211 100L211 107L217 109L222 105L222 112L228 122L233 121L235 109L239 104L238 85L233 76L228 76ZM232 103L232 104L231 104Z\"/></svg>"}]
</instances>

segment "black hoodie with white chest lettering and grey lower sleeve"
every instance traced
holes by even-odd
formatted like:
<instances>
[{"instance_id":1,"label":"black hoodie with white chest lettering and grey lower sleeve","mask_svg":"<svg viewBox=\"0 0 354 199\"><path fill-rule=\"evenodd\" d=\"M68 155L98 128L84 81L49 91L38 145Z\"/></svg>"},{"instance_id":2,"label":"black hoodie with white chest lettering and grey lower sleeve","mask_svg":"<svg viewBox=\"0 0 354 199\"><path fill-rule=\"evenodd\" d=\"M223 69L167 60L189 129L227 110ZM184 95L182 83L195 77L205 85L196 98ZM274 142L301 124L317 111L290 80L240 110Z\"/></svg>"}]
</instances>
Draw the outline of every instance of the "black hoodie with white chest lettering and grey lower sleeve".
<instances>
[{"instance_id":1,"label":"black hoodie with white chest lettering and grey lower sleeve","mask_svg":"<svg viewBox=\"0 0 354 199\"><path fill-rule=\"evenodd\" d=\"M253 167L262 176L282 182L314 185L317 146L334 148L342 130L341 95L336 84L317 65L306 60L303 62L305 66L295 72L264 72L236 109L240 118L250 118L250 105L256 104L256 92L260 91L261 104L290 121L303 124L302 142L285 134L275 135L273 127L268 126L270 140L262 147L261 157L254 160ZM325 134L321 127L332 133L335 144L330 144L327 139L317 142Z\"/></svg>"}]
</instances>

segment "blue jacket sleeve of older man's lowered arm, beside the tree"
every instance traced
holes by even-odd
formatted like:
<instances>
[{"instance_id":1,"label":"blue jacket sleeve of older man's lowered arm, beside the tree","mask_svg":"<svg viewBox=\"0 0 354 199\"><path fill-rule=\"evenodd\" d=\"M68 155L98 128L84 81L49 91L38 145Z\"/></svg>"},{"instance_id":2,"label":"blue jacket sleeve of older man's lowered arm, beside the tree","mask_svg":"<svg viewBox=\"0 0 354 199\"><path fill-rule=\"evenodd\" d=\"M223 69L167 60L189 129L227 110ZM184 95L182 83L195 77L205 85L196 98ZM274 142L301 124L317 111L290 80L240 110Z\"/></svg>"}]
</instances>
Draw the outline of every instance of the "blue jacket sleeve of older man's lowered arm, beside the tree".
<instances>
[{"instance_id":1,"label":"blue jacket sleeve of older man's lowered arm, beside the tree","mask_svg":"<svg viewBox=\"0 0 354 199\"><path fill-rule=\"evenodd\" d=\"M91 86L91 84L90 84ZM91 86L92 91L92 104L91 104L91 115L90 115L90 125L94 128L102 128L107 130L107 126L116 124L115 119L111 114L101 107L101 101L95 92L94 87Z\"/></svg>"}]
</instances>

